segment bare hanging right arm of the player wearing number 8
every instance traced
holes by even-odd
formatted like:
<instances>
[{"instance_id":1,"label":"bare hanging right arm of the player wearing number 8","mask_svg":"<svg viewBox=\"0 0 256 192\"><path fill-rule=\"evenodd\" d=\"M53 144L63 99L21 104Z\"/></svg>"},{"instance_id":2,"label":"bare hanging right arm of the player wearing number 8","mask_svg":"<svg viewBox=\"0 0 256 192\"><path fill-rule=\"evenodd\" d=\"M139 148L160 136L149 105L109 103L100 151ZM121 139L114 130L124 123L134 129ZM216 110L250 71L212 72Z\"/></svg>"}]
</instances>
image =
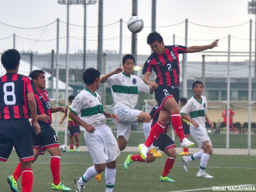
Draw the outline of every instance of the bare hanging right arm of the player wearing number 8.
<instances>
[{"instance_id":1,"label":"bare hanging right arm of the player wearing number 8","mask_svg":"<svg viewBox=\"0 0 256 192\"><path fill-rule=\"evenodd\" d=\"M28 98L28 107L29 107L30 112L31 112L31 117L33 118L33 127L35 128L36 135L38 135L41 132L41 128L40 128L40 126L38 124L38 121L37 121L37 116L36 116L36 100L34 98L34 93L33 92L29 92L27 94L27 98Z\"/></svg>"}]
</instances>

